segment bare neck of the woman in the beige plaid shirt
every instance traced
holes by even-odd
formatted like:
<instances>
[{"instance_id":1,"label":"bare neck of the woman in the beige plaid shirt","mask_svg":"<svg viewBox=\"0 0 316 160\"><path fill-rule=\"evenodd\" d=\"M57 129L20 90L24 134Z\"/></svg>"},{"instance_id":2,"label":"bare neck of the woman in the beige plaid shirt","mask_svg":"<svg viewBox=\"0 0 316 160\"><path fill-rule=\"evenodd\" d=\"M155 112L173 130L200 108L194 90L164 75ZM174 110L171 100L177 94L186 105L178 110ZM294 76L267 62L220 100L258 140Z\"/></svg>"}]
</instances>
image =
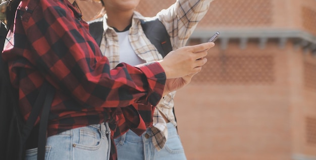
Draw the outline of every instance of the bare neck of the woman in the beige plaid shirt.
<instances>
[{"instance_id":1,"label":"bare neck of the woman in the beige plaid shirt","mask_svg":"<svg viewBox=\"0 0 316 160\"><path fill-rule=\"evenodd\" d=\"M122 31L132 23L133 11L117 12L107 9L107 16L108 26L115 27L119 31Z\"/></svg>"}]
</instances>

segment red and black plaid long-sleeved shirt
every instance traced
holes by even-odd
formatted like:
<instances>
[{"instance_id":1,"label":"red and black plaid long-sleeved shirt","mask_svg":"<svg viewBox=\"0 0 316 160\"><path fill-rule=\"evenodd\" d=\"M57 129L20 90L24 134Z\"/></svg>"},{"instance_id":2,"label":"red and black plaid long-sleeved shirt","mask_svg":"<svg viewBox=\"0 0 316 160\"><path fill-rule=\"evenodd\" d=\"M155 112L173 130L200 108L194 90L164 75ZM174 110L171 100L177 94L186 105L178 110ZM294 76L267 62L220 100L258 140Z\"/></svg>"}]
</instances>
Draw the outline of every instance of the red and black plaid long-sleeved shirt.
<instances>
[{"instance_id":1,"label":"red and black plaid long-sleeved shirt","mask_svg":"<svg viewBox=\"0 0 316 160\"><path fill-rule=\"evenodd\" d=\"M137 126L140 116L130 104L156 105L162 97L166 75L160 64L138 68L120 64L110 70L88 24L67 0L22 0L7 38L3 58L9 62L13 85L19 88L24 118L28 118L44 80L57 88L48 136L116 122L117 107L125 106L121 111L130 116L128 123Z\"/></svg>"}]
</instances>

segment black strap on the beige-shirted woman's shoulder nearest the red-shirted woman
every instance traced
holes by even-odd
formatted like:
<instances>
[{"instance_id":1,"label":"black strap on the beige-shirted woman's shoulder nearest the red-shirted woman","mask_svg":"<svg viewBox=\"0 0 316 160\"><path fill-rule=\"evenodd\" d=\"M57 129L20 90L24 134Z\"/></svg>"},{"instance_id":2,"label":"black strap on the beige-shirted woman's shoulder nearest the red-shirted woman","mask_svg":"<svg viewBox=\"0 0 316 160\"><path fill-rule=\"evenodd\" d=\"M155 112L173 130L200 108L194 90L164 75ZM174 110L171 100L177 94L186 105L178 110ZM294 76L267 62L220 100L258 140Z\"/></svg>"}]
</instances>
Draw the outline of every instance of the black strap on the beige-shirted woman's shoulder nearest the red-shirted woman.
<instances>
[{"instance_id":1,"label":"black strap on the beige-shirted woman's shoulder nearest the red-shirted woman","mask_svg":"<svg viewBox=\"0 0 316 160\"><path fill-rule=\"evenodd\" d=\"M89 32L94 38L96 43L100 46L103 33L103 18L98 18L96 20L90 21L89 23Z\"/></svg>"}]
</instances>

